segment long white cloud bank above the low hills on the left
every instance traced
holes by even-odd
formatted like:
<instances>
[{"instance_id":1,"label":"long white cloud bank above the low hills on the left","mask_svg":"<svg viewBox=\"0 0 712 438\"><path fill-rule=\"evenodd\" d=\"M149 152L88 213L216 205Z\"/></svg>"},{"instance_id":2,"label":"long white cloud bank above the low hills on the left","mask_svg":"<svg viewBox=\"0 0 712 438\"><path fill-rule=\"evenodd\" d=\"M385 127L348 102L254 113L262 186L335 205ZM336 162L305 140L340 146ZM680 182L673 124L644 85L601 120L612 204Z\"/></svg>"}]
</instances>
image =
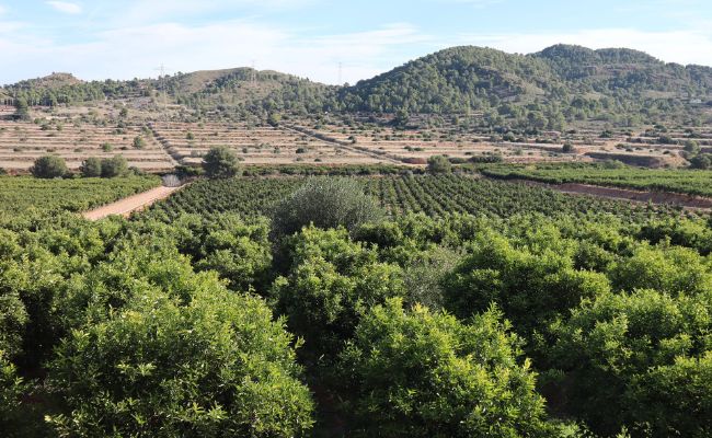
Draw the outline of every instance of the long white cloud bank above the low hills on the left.
<instances>
[{"instance_id":1,"label":"long white cloud bank above the low hills on the left","mask_svg":"<svg viewBox=\"0 0 712 438\"><path fill-rule=\"evenodd\" d=\"M47 74L73 72L82 79L130 79L154 77L165 64L169 72L250 66L277 70L336 83L338 62L343 81L356 82L386 71L406 59L410 51L427 42L409 24L391 24L369 32L305 37L250 21L226 21L187 26L160 23L116 28L94 35L85 44L3 41L5 59L0 80L4 82ZM407 50L406 50L407 51ZM28 71L28 66L32 71Z\"/></svg>"}]
</instances>

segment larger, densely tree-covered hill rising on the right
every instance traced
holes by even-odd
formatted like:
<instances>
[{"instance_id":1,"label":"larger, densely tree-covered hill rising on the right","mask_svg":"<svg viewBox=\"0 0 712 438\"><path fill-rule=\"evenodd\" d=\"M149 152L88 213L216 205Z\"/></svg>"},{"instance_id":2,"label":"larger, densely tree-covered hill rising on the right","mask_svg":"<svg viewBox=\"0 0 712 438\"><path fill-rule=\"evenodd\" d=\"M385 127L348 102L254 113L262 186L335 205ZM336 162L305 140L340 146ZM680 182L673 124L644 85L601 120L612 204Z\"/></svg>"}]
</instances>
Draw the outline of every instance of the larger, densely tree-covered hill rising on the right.
<instances>
[{"instance_id":1,"label":"larger, densely tree-covered hill rising on the right","mask_svg":"<svg viewBox=\"0 0 712 438\"><path fill-rule=\"evenodd\" d=\"M631 49L566 45L531 55L453 47L340 93L347 110L518 116L521 106L535 103L528 110L570 119L682 113L698 100L712 101L709 67L665 64Z\"/></svg>"}]
</instances>

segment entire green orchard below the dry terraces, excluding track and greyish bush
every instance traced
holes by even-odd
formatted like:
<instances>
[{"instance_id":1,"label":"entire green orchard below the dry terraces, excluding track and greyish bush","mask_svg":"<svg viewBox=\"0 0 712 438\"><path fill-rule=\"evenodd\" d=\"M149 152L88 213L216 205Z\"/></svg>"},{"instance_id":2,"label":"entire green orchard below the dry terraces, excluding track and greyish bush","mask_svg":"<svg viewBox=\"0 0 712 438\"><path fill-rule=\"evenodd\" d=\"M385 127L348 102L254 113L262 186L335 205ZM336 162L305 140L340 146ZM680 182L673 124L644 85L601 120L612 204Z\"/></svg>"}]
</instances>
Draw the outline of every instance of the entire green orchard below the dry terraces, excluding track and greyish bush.
<instances>
[{"instance_id":1,"label":"entire green orchard below the dry terraces, excluding track and greyish bush","mask_svg":"<svg viewBox=\"0 0 712 438\"><path fill-rule=\"evenodd\" d=\"M3 433L306 435L299 354L317 436L709 435L701 212L458 174L342 181L392 219L273 234L265 215L308 180L238 177L89 222L62 210L159 178L0 178L0 368L26 379L3 383L23 419ZM567 423L544 422L529 360Z\"/></svg>"}]
</instances>

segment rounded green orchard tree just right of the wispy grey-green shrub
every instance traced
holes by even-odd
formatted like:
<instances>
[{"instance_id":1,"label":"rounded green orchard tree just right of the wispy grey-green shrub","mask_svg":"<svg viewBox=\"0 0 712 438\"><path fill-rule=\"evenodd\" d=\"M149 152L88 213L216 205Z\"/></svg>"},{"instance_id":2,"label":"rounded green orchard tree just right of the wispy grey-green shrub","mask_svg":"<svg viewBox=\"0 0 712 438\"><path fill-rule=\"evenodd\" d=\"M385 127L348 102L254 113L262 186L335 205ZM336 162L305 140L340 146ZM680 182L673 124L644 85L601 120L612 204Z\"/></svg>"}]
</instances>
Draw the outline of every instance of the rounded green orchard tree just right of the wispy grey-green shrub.
<instances>
[{"instance_id":1,"label":"rounded green orchard tree just right of the wispy grey-green shrub","mask_svg":"<svg viewBox=\"0 0 712 438\"><path fill-rule=\"evenodd\" d=\"M446 307L469 318L494 302L519 333L530 334L582 299L610 290L605 275L575 269L571 254L548 244L530 251L501 235L480 235L471 255L444 280Z\"/></svg>"}]
</instances>

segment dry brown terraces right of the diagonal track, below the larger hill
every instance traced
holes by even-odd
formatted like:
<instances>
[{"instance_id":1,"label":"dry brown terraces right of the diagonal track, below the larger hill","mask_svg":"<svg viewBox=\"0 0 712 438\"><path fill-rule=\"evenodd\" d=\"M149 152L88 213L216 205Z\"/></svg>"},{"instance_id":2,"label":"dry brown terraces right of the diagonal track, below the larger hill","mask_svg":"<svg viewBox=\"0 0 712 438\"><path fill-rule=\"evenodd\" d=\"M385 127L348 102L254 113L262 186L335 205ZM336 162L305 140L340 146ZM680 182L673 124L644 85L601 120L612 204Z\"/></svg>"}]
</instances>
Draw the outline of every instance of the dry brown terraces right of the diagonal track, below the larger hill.
<instances>
[{"instance_id":1,"label":"dry brown terraces right of the diagonal track, below the larger hill","mask_svg":"<svg viewBox=\"0 0 712 438\"><path fill-rule=\"evenodd\" d=\"M427 125L416 118L415 125ZM712 127L645 127L610 129L605 124L574 126L565 132L540 130L531 135L490 132L451 122L426 128L397 129L387 119L355 117L348 123L337 117L299 120L295 128L317 137L353 145L354 148L411 163L445 154L456 159L501 155L512 163L619 160L628 164L662 168L682 166L686 141L712 151ZM564 143L573 151L562 153Z\"/></svg>"}]
</instances>

